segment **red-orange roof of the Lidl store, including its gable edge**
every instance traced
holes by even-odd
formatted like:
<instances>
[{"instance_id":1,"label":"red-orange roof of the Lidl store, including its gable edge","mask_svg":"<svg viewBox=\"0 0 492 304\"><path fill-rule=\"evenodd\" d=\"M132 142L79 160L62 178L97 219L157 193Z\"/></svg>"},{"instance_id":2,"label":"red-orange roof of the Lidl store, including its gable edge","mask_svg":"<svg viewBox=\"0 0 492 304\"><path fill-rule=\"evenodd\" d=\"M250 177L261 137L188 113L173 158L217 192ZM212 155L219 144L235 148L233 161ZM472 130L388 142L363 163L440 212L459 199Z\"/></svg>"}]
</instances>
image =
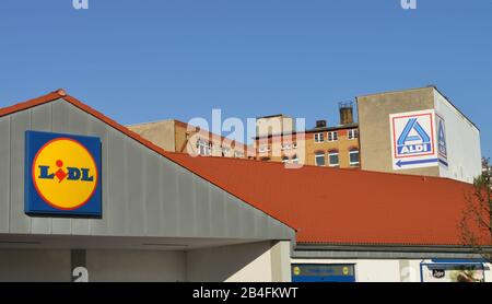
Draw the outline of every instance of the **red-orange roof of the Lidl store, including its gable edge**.
<instances>
[{"instance_id":1,"label":"red-orange roof of the Lidl store, including its gable edge","mask_svg":"<svg viewBox=\"0 0 492 304\"><path fill-rule=\"evenodd\" d=\"M461 245L458 229L472 187L446 178L191 157L169 153L57 91L0 109L0 117L65 98L115 129L297 231L298 243Z\"/></svg>"}]
</instances>

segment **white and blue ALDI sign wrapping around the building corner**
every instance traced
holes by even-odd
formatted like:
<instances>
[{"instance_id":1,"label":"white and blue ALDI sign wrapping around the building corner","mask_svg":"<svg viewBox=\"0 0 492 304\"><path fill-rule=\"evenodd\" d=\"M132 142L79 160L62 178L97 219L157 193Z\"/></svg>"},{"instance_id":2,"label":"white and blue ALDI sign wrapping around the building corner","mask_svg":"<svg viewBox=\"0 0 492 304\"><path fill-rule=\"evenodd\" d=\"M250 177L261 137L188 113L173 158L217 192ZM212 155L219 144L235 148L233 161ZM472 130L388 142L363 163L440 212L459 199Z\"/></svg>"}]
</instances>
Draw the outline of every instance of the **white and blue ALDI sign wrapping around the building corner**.
<instances>
[{"instance_id":1,"label":"white and blue ALDI sign wrapping around the building corner","mask_svg":"<svg viewBox=\"0 0 492 304\"><path fill-rule=\"evenodd\" d=\"M394 169L447 166L446 129L435 110L389 116Z\"/></svg>"}]
</instances>

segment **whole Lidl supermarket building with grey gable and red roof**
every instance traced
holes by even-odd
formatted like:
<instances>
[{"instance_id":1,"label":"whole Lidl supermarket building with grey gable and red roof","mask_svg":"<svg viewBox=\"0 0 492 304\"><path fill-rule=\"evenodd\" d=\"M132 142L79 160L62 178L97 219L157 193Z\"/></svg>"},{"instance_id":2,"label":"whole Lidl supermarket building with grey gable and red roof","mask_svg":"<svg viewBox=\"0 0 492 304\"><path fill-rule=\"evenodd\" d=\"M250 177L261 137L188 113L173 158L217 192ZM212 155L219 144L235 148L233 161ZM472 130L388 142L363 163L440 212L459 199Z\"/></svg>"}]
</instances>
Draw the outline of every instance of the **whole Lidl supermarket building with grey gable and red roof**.
<instances>
[{"instance_id":1,"label":"whole Lidl supermarket building with grey gable and red roof","mask_svg":"<svg viewBox=\"0 0 492 304\"><path fill-rule=\"evenodd\" d=\"M0 141L0 281L492 280L466 183L171 153L62 90Z\"/></svg>"}]
</instances>

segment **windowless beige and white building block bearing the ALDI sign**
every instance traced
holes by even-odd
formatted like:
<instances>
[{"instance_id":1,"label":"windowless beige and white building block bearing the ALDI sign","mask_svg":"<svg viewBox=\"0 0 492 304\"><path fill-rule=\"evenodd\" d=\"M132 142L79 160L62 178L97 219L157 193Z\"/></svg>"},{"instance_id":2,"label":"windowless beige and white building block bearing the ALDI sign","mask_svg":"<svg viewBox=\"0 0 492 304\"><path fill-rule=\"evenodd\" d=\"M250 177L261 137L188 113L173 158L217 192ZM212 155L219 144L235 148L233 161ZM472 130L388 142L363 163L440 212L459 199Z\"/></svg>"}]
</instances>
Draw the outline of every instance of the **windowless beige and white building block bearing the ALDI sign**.
<instances>
[{"instance_id":1,"label":"windowless beige and white building block bearing the ALDI sign","mask_svg":"<svg viewBox=\"0 0 492 304\"><path fill-rule=\"evenodd\" d=\"M480 131L437 87L427 86L358 96L356 103L362 169L448 177L466 183L472 183L473 178L480 175ZM438 159L437 156L435 160L417 157L417 161L412 161L412 157L408 156L408 159L402 157L398 163L395 160L398 156L395 151L401 148L396 147L399 144L397 140L405 141L403 136L407 136L410 143L419 143L415 139L419 139L419 132L424 128L418 125L419 120L413 120L412 129L412 121L409 120L427 114L431 122L426 133L433 141L427 147L435 148L435 151L440 152L436 153L440 155ZM407 127L409 128L402 129L406 135L395 130L391 133L391 128L397 127L395 122L391 126L390 117L402 119L408 117L407 121L410 125ZM411 150L414 147L419 148L419 144L408 144L402 149ZM444 152L441 153L442 151ZM442 154L444 159L441 157ZM396 164L411 164L411 166L398 167Z\"/></svg>"}]
</instances>

